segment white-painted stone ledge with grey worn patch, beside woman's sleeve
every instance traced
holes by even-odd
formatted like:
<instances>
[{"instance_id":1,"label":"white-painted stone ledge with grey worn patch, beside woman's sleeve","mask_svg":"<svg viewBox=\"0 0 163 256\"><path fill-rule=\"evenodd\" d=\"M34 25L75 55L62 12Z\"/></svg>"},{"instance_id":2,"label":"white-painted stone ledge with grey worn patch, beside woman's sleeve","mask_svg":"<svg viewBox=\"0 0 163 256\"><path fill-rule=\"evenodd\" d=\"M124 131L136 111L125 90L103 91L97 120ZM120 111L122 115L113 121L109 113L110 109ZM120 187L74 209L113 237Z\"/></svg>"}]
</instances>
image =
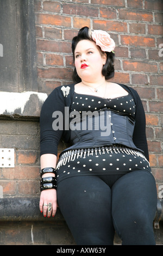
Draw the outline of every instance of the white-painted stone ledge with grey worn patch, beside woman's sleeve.
<instances>
[{"instance_id":1,"label":"white-painted stone ledge with grey worn patch, beside woman's sleeve","mask_svg":"<svg viewBox=\"0 0 163 256\"><path fill-rule=\"evenodd\" d=\"M41 107L46 98L46 93L0 92L0 116L40 117Z\"/></svg>"}]
</instances>

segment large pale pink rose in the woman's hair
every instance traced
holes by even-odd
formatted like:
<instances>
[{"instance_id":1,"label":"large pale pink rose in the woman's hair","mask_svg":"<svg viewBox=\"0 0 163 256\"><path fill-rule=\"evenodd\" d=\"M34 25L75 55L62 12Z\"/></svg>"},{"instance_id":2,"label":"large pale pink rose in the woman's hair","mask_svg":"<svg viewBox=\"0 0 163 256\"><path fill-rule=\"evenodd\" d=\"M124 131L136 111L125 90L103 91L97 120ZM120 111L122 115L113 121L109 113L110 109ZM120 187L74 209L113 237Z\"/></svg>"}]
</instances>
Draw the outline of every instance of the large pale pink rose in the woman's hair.
<instances>
[{"instance_id":1,"label":"large pale pink rose in the woman's hair","mask_svg":"<svg viewBox=\"0 0 163 256\"><path fill-rule=\"evenodd\" d=\"M93 41L96 45L101 47L104 52L111 52L115 48L115 41L110 38L110 35L106 31L95 30L91 34Z\"/></svg>"}]
</instances>

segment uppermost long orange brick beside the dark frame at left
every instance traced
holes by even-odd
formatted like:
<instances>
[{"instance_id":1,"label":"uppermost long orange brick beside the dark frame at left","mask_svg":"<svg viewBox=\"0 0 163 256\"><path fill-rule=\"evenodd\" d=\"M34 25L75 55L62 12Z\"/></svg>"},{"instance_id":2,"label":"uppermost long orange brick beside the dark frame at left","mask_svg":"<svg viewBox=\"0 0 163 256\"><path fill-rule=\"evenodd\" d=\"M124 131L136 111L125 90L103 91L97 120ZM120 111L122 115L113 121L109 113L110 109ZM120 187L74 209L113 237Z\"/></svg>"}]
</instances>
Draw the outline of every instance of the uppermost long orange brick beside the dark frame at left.
<instances>
[{"instance_id":1,"label":"uppermost long orange brick beside the dark frame at left","mask_svg":"<svg viewBox=\"0 0 163 256\"><path fill-rule=\"evenodd\" d=\"M71 27L71 17L52 15L52 14L37 14L36 24L55 25Z\"/></svg>"}]
</instances>

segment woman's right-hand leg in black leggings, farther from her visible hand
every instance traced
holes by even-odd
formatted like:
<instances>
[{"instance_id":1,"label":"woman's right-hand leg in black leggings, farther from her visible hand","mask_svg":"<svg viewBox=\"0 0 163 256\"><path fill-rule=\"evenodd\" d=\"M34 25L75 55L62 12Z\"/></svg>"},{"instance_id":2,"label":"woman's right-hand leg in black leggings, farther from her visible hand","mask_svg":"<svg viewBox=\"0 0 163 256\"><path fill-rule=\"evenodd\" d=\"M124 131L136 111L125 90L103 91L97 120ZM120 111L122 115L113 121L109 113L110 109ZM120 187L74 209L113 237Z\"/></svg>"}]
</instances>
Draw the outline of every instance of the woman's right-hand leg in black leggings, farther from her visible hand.
<instances>
[{"instance_id":1,"label":"woman's right-hand leg in black leggings, farther from her visible hand","mask_svg":"<svg viewBox=\"0 0 163 256\"><path fill-rule=\"evenodd\" d=\"M124 175L112 186L112 217L123 245L155 245L157 192L148 171Z\"/></svg>"}]
</instances>

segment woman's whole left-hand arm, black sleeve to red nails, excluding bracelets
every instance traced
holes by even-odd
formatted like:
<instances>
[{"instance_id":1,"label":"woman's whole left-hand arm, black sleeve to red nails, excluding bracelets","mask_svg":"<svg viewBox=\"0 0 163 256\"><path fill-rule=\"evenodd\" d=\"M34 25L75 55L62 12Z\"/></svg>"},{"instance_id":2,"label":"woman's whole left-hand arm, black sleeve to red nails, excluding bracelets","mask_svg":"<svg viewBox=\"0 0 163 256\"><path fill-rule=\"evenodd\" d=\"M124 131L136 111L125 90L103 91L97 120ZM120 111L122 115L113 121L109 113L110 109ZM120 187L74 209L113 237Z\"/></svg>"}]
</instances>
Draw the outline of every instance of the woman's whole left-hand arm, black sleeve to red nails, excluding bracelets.
<instances>
[{"instance_id":1,"label":"woman's whole left-hand arm, black sleeve to red nails, excluding bracelets","mask_svg":"<svg viewBox=\"0 0 163 256\"><path fill-rule=\"evenodd\" d=\"M53 130L53 113L60 111L64 115L65 101L60 88L55 88L43 103L40 114L40 164L43 168L57 165L58 144L62 136L62 130ZM42 178L55 176L54 173L44 173ZM52 203L52 211L48 212L47 206L43 204ZM57 191L54 188L48 188L41 191L40 195L40 211L43 216L50 217L55 215L57 211Z\"/></svg>"}]
</instances>

